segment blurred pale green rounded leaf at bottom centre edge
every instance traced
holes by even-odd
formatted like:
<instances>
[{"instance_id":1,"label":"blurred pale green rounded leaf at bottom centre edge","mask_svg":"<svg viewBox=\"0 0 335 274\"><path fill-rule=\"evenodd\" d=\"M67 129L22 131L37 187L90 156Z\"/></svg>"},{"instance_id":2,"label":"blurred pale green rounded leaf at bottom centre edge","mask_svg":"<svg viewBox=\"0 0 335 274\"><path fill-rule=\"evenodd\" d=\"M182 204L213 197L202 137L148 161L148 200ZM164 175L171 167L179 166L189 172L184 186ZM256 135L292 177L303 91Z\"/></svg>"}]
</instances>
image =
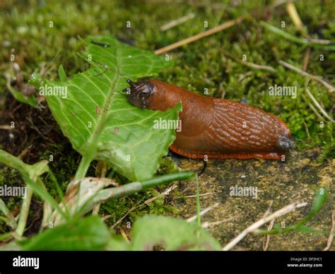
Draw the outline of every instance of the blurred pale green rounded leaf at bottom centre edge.
<instances>
[{"instance_id":1,"label":"blurred pale green rounded leaf at bottom centre edge","mask_svg":"<svg viewBox=\"0 0 335 274\"><path fill-rule=\"evenodd\" d=\"M221 250L208 232L196 225L170 217L147 215L134 223L132 250Z\"/></svg>"}]
</instances>

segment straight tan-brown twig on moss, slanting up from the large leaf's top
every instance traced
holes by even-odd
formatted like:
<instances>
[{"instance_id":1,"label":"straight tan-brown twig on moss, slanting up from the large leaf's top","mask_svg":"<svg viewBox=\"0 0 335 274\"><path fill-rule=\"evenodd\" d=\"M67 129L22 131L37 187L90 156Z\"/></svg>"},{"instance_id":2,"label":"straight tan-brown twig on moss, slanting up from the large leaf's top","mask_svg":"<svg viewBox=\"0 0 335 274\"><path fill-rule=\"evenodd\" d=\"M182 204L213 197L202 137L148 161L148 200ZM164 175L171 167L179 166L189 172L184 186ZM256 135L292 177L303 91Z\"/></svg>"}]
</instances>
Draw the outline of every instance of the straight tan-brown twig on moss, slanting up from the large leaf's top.
<instances>
[{"instance_id":1,"label":"straight tan-brown twig on moss, slanting up from the large leaf's top","mask_svg":"<svg viewBox=\"0 0 335 274\"><path fill-rule=\"evenodd\" d=\"M155 50L155 54L162 54L165 52L169 52L172 49L177 49L177 47L182 47L184 44L192 43L196 40L200 40L201 38L204 38L209 35L213 35L216 32L220 32L221 30L225 30L227 28L232 27L235 24L241 23L243 20L245 20L246 16L240 16L237 19L229 20L221 25L218 25L216 28L211 28L210 30L206 30L204 32L200 32L197 35L193 35L191 37L188 37L186 39L180 40L178 42L175 42L173 44L170 44L166 47L162 47L161 49Z\"/></svg>"}]
</instances>

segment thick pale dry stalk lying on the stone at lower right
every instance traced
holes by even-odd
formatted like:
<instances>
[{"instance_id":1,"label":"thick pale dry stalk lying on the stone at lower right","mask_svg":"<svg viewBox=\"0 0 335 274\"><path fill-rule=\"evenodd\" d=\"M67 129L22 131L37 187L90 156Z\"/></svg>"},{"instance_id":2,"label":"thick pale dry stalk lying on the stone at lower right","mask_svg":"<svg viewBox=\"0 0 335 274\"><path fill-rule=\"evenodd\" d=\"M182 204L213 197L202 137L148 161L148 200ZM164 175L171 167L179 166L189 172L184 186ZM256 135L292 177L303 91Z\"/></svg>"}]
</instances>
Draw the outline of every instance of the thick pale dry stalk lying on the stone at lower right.
<instances>
[{"instance_id":1,"label":"thick pale dry stalk lying on the stone at lower right","mask_svg":"<svg viewBox=\"0 0 335 274\"><path fill-rule=\"evenodd\" d=\"M252 225L247 227L245 230L243 230L235 239L230 241L227 245L223 247L223 251L228 251L232 249L236 244L238 244L247 234L250 232L254 232L254 230L257 230L257 228L261 227L262 225L266 224L266 222L270 222L271 220L281 217L282 215L288 214L292 212L293 210L297 208L302 208L303 206L306 206L307 203L291 203L290 205L286 205L285 207L281 208L280 210L277 210L275 213L272 213L271 215L267 216L266 218L262 218L261 220L258 220L257 222L254 222Z\"/></svg>"}]
</instances>

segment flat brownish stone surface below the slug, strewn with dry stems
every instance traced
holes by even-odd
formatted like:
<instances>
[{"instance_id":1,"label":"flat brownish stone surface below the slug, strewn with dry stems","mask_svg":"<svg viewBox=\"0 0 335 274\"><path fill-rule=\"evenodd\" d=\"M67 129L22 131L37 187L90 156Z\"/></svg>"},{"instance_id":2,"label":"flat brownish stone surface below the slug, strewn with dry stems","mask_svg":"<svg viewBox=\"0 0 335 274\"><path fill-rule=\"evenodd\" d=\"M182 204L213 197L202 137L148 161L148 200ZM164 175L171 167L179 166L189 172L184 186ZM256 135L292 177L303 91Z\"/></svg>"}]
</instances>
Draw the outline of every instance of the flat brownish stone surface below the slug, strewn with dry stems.
<instances>
[{"instance_id":1,"label":"flat brownish stone surface below the slug, strewn with dry stems","mask_svg":"<svg viewBox=\"0 0 335 274\"><path fill-rule=\"evenodd\" d=\"M307 223L308 227L327 232L310 234L288 232L270 237L267 250L322 250L327 245L331 229L331 213L334 210L335 160L317 162L319 150L295 152L286 162L264 160L208 160L199 179L201 209L218 203L201 218L201 222L221 224L208 227L209 232L222 245L228 244L242 230L261 219L271 205L271 212L295 201L307 202L307 206L275 220L275 225L294 225L307 215L319 187L329 189L329 197L322 210ZM182 169L199 172L201 160L174 157ZM230 187L257 187L256 196L231 196ZM183 183L182 196L196 194L195 183ZM196 214L196 198L175 197L174 204L182 212L182 218ZM269 224L261 227L266 229ZM266 236L248 234L235 246L236 250L263 250ZM334 250L334 242L329 250Z\"/></svg>"}]
</instances>

